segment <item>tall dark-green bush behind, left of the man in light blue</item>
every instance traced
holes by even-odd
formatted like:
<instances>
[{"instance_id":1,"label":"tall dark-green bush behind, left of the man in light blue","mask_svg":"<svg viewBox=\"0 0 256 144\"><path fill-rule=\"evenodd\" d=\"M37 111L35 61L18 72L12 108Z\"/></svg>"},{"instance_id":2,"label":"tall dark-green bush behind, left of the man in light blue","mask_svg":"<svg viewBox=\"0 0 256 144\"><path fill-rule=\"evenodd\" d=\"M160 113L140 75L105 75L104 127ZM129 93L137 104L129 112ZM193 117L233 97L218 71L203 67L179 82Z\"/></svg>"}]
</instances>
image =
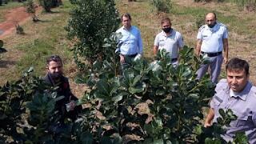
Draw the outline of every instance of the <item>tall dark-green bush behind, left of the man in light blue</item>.
<instances>
[{"instance_id":1,"label":"tall dark-green bush behind, left of the man in light blue","mask_svg":"<svg viewBox=\"0 0 256 144\"><path fill-rule=\"evenodd\" d=\"M70 0L74 9L66 30L68 38L73 39L74 59L80 69L86 69L96 59L105 59L110 51L102 45L104 38L118 28L118 11L114 0Z\"/></svg>"}]
</instances>

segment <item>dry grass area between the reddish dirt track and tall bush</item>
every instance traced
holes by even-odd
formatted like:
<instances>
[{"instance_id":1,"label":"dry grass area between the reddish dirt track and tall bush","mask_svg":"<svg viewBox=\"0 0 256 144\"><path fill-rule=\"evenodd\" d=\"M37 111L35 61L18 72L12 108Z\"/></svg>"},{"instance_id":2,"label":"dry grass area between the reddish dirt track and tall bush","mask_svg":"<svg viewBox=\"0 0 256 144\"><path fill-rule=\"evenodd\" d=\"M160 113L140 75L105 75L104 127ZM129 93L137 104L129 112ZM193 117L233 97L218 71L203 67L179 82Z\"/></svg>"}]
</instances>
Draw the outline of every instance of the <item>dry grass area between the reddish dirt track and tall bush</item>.
<instances>
[{"instance_id":1,"label":"dry grass area between the reddish dirt track and tall bush","mask_svg":"<svg viewBox=\"0 0 256 144\"><path fill-rule=\"evenodd\" d=\"M58 54L63 58L67 71L72 68L72 54L70 42L66 39L67 19L69 18L70 2L63 1L64 6L53 9L53 13L40 13L40 22L26 22L22 27L25 35L13 35L4 39L9 50L18 51L18 61L14 68L3 74L4 78L14 80L24 71L34 66L36 75L43 75L46 72L46 57L50 54ZM14 41L14 43L12 43ZM5 82L5 81L2 81Z\"/></svg>"}]
</instances>

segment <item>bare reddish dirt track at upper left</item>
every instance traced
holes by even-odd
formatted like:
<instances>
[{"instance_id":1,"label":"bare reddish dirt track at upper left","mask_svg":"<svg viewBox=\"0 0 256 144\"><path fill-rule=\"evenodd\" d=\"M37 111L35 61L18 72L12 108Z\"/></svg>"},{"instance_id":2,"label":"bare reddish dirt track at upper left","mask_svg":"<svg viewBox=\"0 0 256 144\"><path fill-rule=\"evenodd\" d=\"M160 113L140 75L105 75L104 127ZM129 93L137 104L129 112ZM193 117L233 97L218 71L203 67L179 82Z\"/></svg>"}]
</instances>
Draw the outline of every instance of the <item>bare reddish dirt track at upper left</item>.
<instances>
[{"instance_id":1,"label":"bare reddish dirt track at upper left","mask_svg":"<svg viewBox=\"0 0 256 144\"><path fill-rule=\"evenodd\" d=\"M30 18L30 14L26 13L25 7L18 7L8 10L5 16L6 21L0 23L0 38L6 37L15 30L15 26L26 22Z\"/></svg>"}]
</instances>

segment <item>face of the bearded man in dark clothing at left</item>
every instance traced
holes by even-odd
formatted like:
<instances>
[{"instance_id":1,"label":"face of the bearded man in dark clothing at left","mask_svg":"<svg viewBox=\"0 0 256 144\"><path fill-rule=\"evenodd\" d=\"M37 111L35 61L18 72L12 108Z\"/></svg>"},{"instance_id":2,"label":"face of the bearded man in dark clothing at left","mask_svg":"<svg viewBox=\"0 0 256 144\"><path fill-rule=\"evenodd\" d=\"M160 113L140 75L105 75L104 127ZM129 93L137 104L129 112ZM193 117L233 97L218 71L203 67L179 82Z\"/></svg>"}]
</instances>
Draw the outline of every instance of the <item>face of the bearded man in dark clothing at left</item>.
<instances>
[{"instance_id":1,"label":"face of the bearded man in dark clothing at left","mask_svg":"<svg viewBox=\"0 0 256 144\"><path fill-rule=\"evenodd\" d=\"M52 77L58 78L59 76L62 75L62 62L51 61L47 65L47 70L48 70L48 73L50 73Z\"/></svg>"}]
</instances>

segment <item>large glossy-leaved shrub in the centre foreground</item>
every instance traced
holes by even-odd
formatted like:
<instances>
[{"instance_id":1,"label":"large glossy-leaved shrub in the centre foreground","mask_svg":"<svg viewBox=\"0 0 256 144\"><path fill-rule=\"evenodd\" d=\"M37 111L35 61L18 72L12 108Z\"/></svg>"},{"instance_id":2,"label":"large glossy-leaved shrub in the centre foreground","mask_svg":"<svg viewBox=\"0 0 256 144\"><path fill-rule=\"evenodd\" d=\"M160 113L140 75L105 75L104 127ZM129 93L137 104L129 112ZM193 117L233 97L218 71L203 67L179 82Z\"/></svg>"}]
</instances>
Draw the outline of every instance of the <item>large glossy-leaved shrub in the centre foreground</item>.
<instances>
[{"instance_id":1,"label":"large glossy-leaved shrub in the centre foreground","mask_svg":"<svg viewBox=\"0 0 256 144\"><path fill-rule=\"evenodd\" d=\"M155 62L134 61L118 77L111 66L102 64L102 69L91 70L94 73L86 78L91 90L84 97L91 107L83 123L85 130L93 131L94 142L106 136L116 138L116 134L121 138L135 134L138 139L134 142L197 142L193 130L200 125L202 106L214 94L214 84L209 78L196 79L200 59L193 56L192 49L185 46L180 55L177 67L161 51ZM138 106L146 102L150 114L141 114ZM94 118L94 111L102 118ZM146 123L150 115L154 117Z\"/></svg>"}]
</instances>

